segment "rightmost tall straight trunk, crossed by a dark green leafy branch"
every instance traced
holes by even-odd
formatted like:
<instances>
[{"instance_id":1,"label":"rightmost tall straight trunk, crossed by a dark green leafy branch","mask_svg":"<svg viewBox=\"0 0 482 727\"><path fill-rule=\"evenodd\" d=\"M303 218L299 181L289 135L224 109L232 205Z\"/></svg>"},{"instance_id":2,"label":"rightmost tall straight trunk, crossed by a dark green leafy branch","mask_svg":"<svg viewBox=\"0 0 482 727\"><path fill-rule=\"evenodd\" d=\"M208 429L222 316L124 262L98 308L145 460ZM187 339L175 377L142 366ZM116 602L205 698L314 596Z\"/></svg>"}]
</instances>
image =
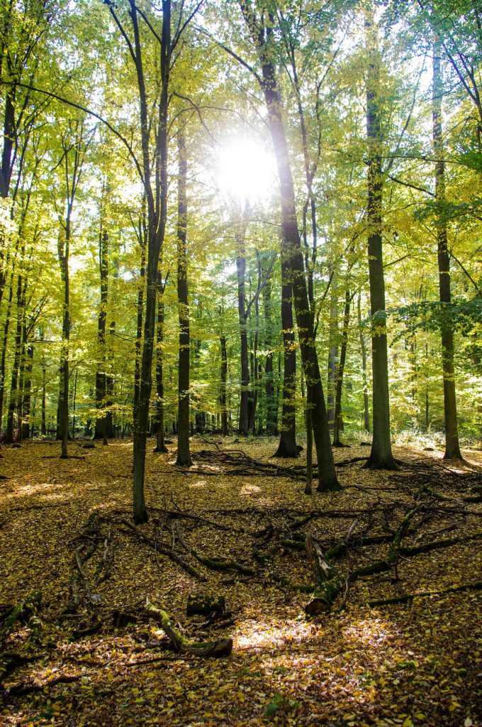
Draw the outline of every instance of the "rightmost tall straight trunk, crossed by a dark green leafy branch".
<instances>
[{"instance_id":1,"label":"rightmost tall straight trunk, crossed by a dark green leafy branch","mask_svg":"<svg viewBox=\"0 0 482 727\"><path fill-rule=\"evenodd\" d=\"M445 161L444 140L442 132L442 96L444 84L441 73L441 41L433 44L433 152L436 158L435 185L438 215L436 225L437 257L438 257L438 288L442 313L452 303L450 291L450 257L447 225L444 210L445 202ZM457 427L457 400L455 395L454 375L454 333L449 323L441 325L442 340L442 371L444 375L444 419L445 419L445 454L444 459L462 459Z\"/></svg>"}]
</instances>

